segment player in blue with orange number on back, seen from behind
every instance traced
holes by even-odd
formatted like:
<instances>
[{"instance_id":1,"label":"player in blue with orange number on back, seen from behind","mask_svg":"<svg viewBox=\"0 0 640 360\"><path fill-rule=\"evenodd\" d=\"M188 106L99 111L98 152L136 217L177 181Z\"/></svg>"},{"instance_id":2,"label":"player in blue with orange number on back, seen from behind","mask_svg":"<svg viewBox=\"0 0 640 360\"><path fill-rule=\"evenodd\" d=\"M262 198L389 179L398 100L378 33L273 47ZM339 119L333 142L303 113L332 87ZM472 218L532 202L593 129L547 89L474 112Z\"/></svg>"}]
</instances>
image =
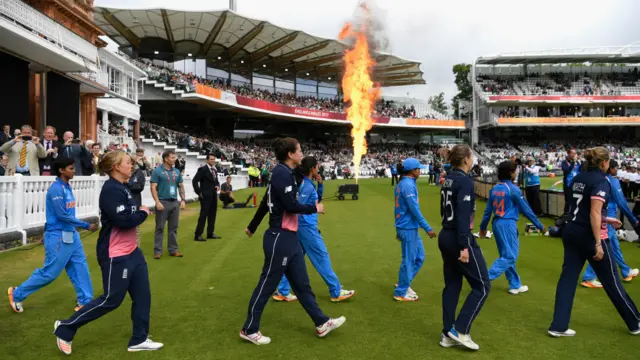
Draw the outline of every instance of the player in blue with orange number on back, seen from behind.
<instances>
[{"instance_id":1,"label":"player in blue with orange number on back, seen from behind","mask_svg":"<svg viewBox=\"0 0 640 360\"><path fill-rule=\"evenodd\" d=\"M500 258L489 269L489 280L497 279L503 273L509 282L509 293L517 295L529 291L529 287L522 285L520 276L516 272L516 260L520 251L518 240L518 213L521 212L536 227L544 230L544 226L522 198L520 189L513 184L516 178L516 164L505 161L498 165L498 180L500 181L491 189L487 207L484 210L482 223L480 224L480 237L487 234L487 225L493 214L493 233L498 245Z\"/></svg>"}]
</instances>

